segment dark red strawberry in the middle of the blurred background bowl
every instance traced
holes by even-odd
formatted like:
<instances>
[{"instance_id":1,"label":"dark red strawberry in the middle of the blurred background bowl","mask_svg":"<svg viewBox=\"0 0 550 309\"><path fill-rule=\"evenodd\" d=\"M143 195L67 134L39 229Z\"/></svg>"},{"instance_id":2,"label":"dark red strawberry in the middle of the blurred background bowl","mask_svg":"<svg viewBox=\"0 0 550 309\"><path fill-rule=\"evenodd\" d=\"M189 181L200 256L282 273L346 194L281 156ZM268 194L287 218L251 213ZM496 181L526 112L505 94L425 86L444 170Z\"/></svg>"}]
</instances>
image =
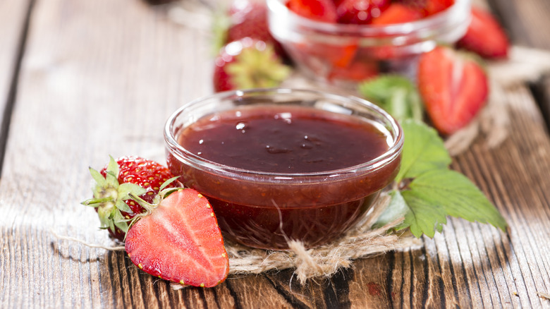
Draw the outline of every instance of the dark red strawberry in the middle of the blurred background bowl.
<instances>
[{"instance_id":1,"label":"dark red strawberry in the middle of the blurred background bowl","mask_svg":"<svg viewBox=\"0 0 550 309\"><path fill-rule=\"evenodd\" d=\"M343 0L336 7L338 23L367 24L380 16L390 0Z\"/></svg>"}]
</instances>

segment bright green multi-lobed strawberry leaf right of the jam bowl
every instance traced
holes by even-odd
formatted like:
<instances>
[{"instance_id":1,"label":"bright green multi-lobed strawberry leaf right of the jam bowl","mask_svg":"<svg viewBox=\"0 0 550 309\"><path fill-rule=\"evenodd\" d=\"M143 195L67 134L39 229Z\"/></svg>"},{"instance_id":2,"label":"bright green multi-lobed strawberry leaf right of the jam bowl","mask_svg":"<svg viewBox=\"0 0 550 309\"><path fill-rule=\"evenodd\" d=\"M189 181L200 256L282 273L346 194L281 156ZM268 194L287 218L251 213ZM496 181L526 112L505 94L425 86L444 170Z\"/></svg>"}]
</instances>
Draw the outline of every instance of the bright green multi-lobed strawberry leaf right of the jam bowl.
<instances>
[{"instance_id":1,"label":"bright green multi-lobed strawberry leaf right of the jam bowl","mask_svg":"<svg viewBox=\"0 0 550 309\"><path fill-rule=\"evenodd\" d=\"M393 229L409 228L416 237L433 237L451 216L506 229L506 220L482 191L466 176L448 169L451 157L433 128L413 120L401 126L405 143L396 177L400 191L389 193L391 202L375 226L405 217Z\"/></svg>"}]
</instances>

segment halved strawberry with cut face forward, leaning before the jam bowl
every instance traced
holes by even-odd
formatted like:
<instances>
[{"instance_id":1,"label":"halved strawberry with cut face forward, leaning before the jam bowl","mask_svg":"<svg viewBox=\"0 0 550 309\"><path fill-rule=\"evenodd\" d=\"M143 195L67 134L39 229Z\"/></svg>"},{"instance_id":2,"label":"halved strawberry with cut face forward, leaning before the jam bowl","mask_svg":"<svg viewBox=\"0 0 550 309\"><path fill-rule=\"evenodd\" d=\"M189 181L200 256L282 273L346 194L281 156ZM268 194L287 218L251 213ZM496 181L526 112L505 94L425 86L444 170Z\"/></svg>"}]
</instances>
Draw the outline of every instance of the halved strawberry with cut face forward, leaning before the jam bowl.
<instances>
[{"instance_id":1,"label":"halved strawberry with cut face forward, leaning before the jam bowl","mask_svg":"<svg viewBox=\"0 0 550 309\"><path fill-rule=\"evenodd\" d=\"M224 281L229 260L208 200L193 189L161 191L161 200L142 206L126 234L130 260L155 277L211 287Z\"/></svg>"}]
</instances>

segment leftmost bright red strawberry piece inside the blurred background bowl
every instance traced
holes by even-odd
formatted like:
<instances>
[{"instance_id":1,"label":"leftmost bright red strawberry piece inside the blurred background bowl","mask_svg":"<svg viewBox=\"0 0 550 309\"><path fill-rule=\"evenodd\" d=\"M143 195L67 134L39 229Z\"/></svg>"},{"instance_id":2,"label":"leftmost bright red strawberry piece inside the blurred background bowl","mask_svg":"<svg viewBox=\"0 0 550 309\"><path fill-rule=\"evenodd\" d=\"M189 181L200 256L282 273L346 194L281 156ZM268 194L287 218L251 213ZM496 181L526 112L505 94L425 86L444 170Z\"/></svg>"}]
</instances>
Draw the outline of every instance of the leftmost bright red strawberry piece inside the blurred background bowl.
<instances>
[{"instance_id":1,"label":"leftmost bright red strawberry piece inside the blurred background bowl","mask_svg":"<svg viewBox=\"0 0 550 309\"><path fill-rule=\"evenodd\" d=\"M312 20L336 23L336 6L331 0L288 0L288 9Z\"/></svg>"}]
</instances>

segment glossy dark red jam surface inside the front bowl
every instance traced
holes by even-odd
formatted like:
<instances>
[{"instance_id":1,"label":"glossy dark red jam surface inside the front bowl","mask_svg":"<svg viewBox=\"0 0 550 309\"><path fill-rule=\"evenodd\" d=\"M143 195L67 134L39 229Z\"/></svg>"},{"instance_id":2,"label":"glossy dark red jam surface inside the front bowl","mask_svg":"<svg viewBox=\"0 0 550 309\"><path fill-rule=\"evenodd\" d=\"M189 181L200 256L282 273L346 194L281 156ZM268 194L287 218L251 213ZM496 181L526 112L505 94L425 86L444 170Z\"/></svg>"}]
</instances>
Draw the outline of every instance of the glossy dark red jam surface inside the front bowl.
<instances>
[{"instance_id":1,"label":"glossy dark red jam surface inside the front bowl","mask_svg":"<svg viewBox=\"0 0 550 309\"><path fill-rule=\"evenodd\" d=\"M200 119L178 143L226 166L276 173L332 171L368 162L388 150L372 123L316 109L238 109Z\"/></svg>"}]
</instances>

